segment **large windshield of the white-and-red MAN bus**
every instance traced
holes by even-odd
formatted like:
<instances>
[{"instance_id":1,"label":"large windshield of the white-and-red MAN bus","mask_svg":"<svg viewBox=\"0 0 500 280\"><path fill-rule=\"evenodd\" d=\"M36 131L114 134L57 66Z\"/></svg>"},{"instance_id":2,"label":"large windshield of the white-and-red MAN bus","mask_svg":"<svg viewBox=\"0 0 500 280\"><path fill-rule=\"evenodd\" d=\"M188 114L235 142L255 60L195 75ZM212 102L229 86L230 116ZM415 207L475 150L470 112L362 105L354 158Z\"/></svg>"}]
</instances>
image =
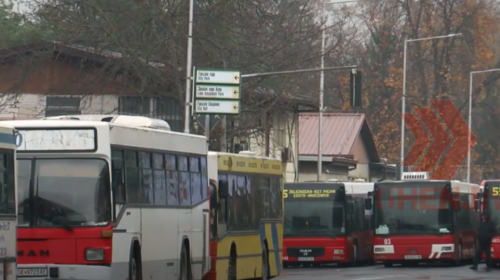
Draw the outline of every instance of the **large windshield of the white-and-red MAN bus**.
<instances>
[{"instance_id":1,"label":"large windshield of the white-and-red MAN bus","mask_svg":"<svg viewBox=\"0 0 500 280\"><path fill-rule=\"evenodd\" d=\"M19 226L71 229L111 221L104 160L19 159L18 170Z\"/></svg>"}]
</instances>

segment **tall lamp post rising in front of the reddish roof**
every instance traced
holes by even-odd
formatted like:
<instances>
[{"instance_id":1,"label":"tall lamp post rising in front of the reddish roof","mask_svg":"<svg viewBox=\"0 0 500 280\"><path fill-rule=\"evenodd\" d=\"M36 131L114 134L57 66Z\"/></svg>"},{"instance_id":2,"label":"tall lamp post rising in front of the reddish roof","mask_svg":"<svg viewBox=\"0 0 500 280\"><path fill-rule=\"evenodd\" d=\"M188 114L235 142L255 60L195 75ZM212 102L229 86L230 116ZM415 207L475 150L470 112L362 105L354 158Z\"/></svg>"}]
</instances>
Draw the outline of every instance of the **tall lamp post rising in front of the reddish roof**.
<instances>
[{"instance_id":1,"label":"tall lamp post rising in front of the reddish roof","mask_svg":"<svg viewBox=\"0 0 500 280\"><path fill-rule=\"evenodd\" d=\"M326 22L326 5L327 4L342 4L357 2L358 0L342 0L342 1L323 1L323 9L321 11L321 17L323 23ZM326 44L326 34L325 28L321 31L321 66L320 68L325 68L325 44ZM323 147L322 139L323 136L323 110L325 102L325 71L321 71L320 81L319 81L319 112L318 112L318 181L321 180L323 173Z\"/></svg>"}]
</instances>

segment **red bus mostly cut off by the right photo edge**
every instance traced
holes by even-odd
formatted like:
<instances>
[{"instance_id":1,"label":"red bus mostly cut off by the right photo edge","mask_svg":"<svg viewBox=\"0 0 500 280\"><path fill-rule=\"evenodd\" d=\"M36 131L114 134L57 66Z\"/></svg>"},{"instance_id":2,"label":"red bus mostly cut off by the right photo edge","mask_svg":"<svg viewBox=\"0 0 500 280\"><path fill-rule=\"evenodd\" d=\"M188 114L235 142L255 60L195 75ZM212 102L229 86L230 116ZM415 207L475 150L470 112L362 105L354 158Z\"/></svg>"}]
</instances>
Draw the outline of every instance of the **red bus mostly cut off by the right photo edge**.
<instances>
[{"instance_id":1,"label":"red bus mostly cut off by the right photo edge","mask_svg":"<svg viewBox=\"0 0 500 280\"><path fill-rule=\"evenodd\" d=\"M497 227L497 236L491 241L491 258L496 266L500 265L500 180L485 180L481 183L484 187L482 211L487 211L490 219ZM479 207L478 207L479 208ZM484 254L483 254L484 255ZM484 256L483 256L484 257Z\"/></svg>"}]
</instances>

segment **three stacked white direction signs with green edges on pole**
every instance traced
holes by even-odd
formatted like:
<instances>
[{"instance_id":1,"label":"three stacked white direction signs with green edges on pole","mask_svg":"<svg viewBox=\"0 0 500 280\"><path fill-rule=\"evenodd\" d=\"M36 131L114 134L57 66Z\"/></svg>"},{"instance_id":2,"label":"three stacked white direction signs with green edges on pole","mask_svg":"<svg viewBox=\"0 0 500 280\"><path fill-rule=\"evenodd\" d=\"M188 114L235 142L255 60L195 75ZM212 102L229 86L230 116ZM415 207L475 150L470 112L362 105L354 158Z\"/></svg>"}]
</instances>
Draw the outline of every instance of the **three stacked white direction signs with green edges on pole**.
<instances>
[{"instance_id":1,"label":"three stacked white direction signs with green edges on pole","mask_svg":"<svg viewBox=\"0 0 500 280\"><path fill-rule=\"evenodd\" d=\"M241 110L240 80L241 73L237 70L196 69L194 112L238 115Z\"/></svg>"}]
</instances>

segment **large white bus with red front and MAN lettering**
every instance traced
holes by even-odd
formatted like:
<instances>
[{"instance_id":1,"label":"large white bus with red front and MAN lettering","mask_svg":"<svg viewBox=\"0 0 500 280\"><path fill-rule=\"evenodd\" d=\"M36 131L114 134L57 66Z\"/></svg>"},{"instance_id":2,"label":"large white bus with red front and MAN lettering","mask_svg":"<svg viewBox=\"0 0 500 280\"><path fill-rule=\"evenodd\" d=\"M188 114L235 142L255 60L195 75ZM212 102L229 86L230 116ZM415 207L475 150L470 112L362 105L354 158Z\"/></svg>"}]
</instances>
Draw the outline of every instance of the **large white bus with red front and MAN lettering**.
<instances>
[{"instance_id":1,"label":"large white bus with red front and MAN lettering","mask_svg":"<svg viewBox=\"0 0 500 280\"><path fill-rule=\"evenodd\" d=\"M201 279L206 138L156 119L81 115L19 131L18 277Z\"/></svg>"}]
</instances>

